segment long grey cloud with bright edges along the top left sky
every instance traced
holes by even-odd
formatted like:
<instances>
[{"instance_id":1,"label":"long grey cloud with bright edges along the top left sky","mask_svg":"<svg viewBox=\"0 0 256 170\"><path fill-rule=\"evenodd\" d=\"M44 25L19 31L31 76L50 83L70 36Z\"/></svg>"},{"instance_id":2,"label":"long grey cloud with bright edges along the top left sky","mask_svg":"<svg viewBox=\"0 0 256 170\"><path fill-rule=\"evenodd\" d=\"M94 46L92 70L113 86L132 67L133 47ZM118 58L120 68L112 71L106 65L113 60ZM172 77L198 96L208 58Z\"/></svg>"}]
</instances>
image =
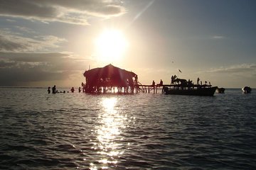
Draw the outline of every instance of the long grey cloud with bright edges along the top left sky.
<instances>
[{"instance_id":1,"label":"long grey cloud with bright edges along the top left sky","mask_svg":"<svg viewBox=\"0 0 256 170\"><path fill-rule=\"evenodd\" d=\"M0 0L0 16L43 22L89 25L89 17L112 17L125 13L120 1L105 0Z\"/></svg>"}]
</instances>

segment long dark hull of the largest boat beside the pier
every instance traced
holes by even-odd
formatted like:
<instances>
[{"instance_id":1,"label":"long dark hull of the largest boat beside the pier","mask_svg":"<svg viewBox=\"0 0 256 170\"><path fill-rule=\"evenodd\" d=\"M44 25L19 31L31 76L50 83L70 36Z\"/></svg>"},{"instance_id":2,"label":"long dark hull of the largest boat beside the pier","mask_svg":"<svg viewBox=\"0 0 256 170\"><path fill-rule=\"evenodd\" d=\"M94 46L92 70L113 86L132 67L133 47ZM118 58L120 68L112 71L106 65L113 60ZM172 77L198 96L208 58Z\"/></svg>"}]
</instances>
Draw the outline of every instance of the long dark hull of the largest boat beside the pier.
<instances>
[{"instance_id":1,"label":"long dark hull of the largest boat beside the pier","mask_svg":"<svg viewBox=\"0 0 256 170\"><path fill-rule=\"evenodd\" d=\"M188 95L188 96L213 96L217 86L198 89L164 89L164 94Z\"/></svg>"}]
</instances>

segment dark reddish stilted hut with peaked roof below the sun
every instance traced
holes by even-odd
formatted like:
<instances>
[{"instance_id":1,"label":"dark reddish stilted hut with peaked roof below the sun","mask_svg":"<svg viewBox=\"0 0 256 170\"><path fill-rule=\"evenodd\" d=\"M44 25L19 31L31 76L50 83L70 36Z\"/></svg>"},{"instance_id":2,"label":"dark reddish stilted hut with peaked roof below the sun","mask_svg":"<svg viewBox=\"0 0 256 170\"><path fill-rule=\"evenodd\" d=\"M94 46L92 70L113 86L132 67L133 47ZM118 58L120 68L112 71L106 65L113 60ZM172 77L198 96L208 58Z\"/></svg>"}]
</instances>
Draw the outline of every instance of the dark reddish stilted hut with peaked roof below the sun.
<instances>
[{"instance_id":1,"label":"dark reddish stilted hut with peaked roof below the sun","mask_svg":"<svg viewBox=\"0 0 256 170\"><path fill-rule=\"evenodd\" d=\"M123 93L133 94L138 91L138 77L134 72L114 67L108 64L105 67L90 69L83 74L85 93Z\"/></svg>"}]
</instances>

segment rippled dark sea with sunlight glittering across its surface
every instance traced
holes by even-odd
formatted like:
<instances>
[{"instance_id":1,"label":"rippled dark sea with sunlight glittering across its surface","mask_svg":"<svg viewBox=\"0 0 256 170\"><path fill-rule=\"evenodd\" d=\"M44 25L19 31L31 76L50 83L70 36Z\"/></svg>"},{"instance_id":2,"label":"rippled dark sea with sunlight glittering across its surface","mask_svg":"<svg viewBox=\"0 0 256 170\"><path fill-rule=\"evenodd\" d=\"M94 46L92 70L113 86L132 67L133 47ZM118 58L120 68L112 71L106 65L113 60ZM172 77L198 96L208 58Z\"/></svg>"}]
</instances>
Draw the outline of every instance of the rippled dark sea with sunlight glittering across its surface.
<instances>
[{"instance_id":1,"label":"rippled dark sea with sunlight glittering across its surface","mask_svg":"<svg viewBox=\"0 0 256 170\"><path fill-rule=\"evenodd\" d=\"M0 169L256 169L255 158L254 89L204 97L0 88Z\"/></svg>"}]
</instances>

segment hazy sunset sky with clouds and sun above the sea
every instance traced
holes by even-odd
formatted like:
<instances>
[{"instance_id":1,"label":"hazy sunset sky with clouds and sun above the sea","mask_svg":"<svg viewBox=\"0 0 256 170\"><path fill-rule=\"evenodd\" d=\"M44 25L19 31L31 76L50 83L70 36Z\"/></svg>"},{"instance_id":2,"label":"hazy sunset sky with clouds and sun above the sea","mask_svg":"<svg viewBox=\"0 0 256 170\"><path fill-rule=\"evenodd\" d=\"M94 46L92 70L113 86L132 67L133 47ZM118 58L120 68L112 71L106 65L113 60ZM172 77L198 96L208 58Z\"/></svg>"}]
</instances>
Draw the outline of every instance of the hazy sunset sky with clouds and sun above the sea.
<instances>
[{"instance_id":1,"label":"hazy sunset sky with clouds and sun above the sea","mask_svg":"<svg viewBox=\"0 0 256 170\"><path fill-rule=\"evenodd\" d=\"M0 86L78 87L107 64L256 88L256 1L0 0Z\"/></svg>"}]
</instances>

